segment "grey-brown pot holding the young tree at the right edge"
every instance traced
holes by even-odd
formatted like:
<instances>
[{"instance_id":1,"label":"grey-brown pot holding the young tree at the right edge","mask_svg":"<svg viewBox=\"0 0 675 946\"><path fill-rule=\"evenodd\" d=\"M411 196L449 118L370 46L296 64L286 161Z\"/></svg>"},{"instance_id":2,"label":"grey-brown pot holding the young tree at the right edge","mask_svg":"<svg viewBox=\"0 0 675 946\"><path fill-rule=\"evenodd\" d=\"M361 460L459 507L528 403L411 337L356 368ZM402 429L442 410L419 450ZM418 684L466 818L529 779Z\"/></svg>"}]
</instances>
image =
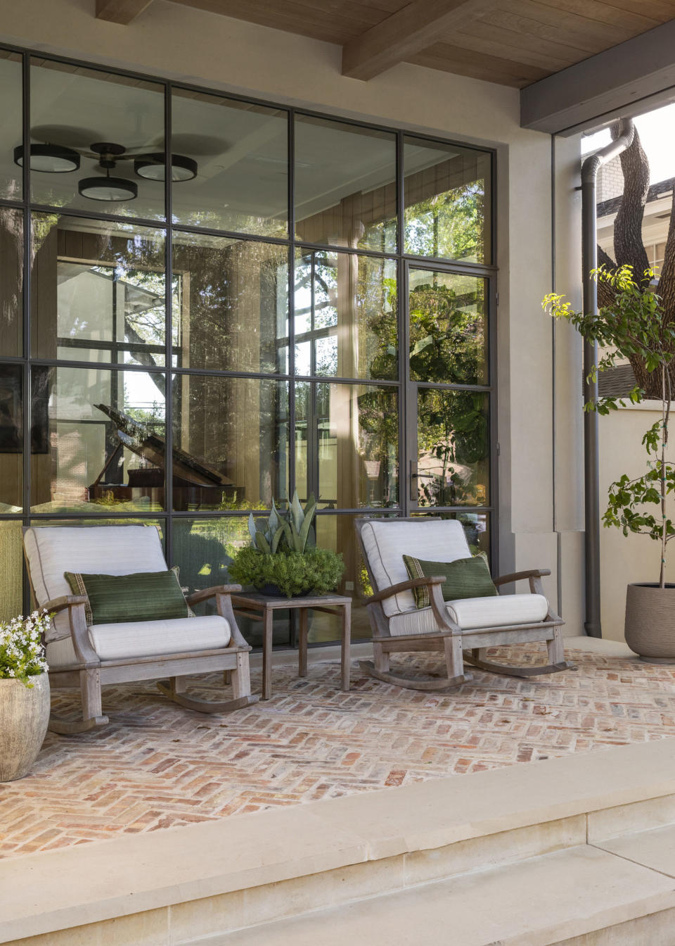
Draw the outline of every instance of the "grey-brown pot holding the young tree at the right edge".
<instances>
[{"instance_id":1,"label":"grey-brown pot holding the young tree at the right edge","mask_svg":"<svg viewBox=\"0 0 675 946\"><path fill-rule=\"evenodd\" d=\"M675 663L675 585L629 585L625 633L641 659Z\"/></svg>"}]
</instances>

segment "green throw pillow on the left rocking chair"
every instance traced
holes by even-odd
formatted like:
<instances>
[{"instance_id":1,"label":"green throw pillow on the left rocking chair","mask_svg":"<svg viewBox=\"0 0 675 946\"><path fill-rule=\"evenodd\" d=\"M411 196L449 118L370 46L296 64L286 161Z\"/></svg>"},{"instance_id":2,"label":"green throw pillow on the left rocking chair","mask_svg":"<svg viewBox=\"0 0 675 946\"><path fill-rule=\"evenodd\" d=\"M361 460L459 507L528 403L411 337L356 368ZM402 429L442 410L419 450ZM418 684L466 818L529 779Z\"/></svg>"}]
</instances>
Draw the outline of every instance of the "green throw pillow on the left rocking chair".
<instances>
[{"instance_id":1,"label":"green throw pillow on the left rocking chair","mask_svg":"<svg viewBox=\"0 0 675 946\"><path fill-rule=\"evenodd\" d=\"M87 598L88 625L193 617L182 593L178 568L132 575L64 574L73 594Z\"/></svg>"}]
</instances>

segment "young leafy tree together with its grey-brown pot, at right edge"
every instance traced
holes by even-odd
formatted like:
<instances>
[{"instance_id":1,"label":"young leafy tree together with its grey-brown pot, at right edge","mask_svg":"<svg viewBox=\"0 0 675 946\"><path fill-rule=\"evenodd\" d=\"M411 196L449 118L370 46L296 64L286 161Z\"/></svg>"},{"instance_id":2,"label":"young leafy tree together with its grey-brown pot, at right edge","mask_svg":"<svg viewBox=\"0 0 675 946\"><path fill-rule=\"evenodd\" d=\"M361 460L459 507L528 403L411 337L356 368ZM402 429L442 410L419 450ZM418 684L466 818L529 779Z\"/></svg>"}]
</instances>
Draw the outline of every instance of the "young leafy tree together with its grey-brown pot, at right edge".
<instances>
[{"instance_id":1,"label":"young leafy tree together with its grey-brown pot, at right edge","mask_svg":"<svg viewBox=\"0 0 675 946\"><path fill-rule=\"evenodd\" d=\"M629 359L644 366L649 398L658 393L661 416L642 438L647 453L645 472L634 478L624 474L611 484L602 522L621 529L624 535L649 535L658 543L659 580L628 586L625 634L629 646L643 659L675 663L675 586L666 584L666 551L675 536L666 508L669 494L675 489L675 466L666 459L675 328L660 296L650 289L654 276L651 270L639 282L629 265L615 270L600 267L593 275L598 296L610 300L598 308L596 315L575 312L564 296L556 293L547 295L543 306L554 318L573 324L584 339L597 342L603 349L594 379L597 372L614 368L617 360ZM605 291L599 292L600 286ZM635 385L628 397L639 404L645 400L646 391ZM584 410L608 414L625 403L620 397L600 397L586 403Z\"/></svg>"}]
</instances>

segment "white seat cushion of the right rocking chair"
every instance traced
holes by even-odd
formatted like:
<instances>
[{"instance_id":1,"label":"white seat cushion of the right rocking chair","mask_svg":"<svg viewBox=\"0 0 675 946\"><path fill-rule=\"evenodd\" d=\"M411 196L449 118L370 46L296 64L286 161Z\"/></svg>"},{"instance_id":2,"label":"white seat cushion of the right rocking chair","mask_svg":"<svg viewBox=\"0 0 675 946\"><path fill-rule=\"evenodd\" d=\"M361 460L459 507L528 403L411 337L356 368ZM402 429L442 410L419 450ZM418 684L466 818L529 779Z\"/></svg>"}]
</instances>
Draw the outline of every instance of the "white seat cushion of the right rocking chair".
<instances>
[{"instance_id":1,"label":"white seat cushion of the right rocking chair","mask_svg":"<svg viewBox=\"0 0 675 946\"><path fill-rule=\"evenodd\" d=\"M505 594L449 601L445 610L462 631L474 631L511 624L538 624L548 613L548 602L542 594ZM438 630L438 624L431 608L423 607L392 617L389 630L392 637L430 634Z\"/></svg>"}]
</instances>

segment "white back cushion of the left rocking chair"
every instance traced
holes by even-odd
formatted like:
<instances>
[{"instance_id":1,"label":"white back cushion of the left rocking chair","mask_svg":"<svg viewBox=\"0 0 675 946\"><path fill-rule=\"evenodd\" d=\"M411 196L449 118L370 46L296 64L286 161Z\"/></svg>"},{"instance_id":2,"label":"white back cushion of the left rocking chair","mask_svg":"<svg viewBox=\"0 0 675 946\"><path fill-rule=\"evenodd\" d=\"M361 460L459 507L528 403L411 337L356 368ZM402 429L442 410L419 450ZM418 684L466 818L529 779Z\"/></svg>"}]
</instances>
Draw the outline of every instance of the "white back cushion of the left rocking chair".
<instances>
[{"instance_id":1,"label":"white back cushion of the left rocking chair","mask_svg":"<svg viewBox=\"0 0 675 946\"><path fill-rule=\"evenodd\" d=\"M156 526L31 526L24 545L39 607L73 593L63 577L65 571L130 575L167 568ZM61 611L49 639L69 634L68 612Z\"/></svg>"}]
</instances>

